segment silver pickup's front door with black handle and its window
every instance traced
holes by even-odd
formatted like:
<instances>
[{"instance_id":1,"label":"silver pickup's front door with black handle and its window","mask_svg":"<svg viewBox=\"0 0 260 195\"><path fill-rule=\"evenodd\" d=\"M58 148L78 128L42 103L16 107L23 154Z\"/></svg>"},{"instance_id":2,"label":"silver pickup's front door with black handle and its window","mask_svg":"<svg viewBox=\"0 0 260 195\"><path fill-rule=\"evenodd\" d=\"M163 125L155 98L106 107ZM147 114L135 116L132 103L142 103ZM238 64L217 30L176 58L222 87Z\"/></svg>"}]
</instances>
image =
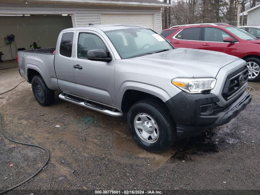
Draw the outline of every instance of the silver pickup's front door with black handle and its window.
<instances>
[{"instance_id":1,"label":"silver pickup's front door with black handle and its window","mask_svg":"<svg viewBox=\"0 0 260 195\"><path fill-rule=\"evenodd\" d=\"M76 95L87 100L115 107L114 56L106 40L93 31L77 31L75 38L76 54L73 59L73 72L76 82ZM103 49L112 55L112 61L87 59L87 51Z\"/></svg>"}]
</instances>

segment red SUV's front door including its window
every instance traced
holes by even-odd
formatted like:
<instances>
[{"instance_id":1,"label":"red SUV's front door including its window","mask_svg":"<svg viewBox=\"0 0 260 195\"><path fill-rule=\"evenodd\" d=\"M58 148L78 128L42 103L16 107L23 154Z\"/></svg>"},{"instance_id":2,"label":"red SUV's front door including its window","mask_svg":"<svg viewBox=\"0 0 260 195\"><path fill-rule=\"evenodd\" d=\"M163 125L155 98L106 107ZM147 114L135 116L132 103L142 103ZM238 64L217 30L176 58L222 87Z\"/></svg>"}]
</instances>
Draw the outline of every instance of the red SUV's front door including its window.
<instances>
[{"instance_id":1,"label":"red SUV's front door including its window","mask_svg":"<svg viewBox=\"0 0 260 195\"><path fill-rule=\"evenodd\" d=\"M219 28L205 27L202 33L201 49L235 55L237 43L224 42L225 38L230 37L232 36ZM233 38L233 40L235 40L235 38Z\"/></svg>"}]
</instances>

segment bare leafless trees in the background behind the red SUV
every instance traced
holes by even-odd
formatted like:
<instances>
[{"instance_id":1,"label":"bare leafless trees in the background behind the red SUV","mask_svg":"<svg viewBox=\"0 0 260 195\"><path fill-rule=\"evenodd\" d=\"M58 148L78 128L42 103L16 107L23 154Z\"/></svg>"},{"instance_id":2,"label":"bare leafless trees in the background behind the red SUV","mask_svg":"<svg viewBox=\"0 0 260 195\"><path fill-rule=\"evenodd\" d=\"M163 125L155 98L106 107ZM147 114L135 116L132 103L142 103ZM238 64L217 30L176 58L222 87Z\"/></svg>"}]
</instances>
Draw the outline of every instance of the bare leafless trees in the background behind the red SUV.
<instances>
[{"instance_id":1,"label":"bare leafless trees in the background behind the red SUV","mask_svg":"<svg viewBox=\"0 0 260 195\"><path fill-rule=\"evenodd\" d=\"M260 4L260 0L164 0L172 7L162 9L162 28L202 22L236 25L238 1L241 12Z\"/></svg>"}]
</instances>

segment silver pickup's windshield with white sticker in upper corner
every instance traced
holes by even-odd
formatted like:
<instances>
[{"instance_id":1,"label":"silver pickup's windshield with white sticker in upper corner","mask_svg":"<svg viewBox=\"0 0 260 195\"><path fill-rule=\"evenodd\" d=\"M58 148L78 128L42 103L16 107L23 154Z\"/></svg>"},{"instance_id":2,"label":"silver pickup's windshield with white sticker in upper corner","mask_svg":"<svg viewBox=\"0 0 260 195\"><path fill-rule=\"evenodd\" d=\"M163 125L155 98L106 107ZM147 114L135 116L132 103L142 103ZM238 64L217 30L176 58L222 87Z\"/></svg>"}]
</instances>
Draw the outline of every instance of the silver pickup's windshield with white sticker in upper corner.
<instances>
[{"instance_id":1,"label":"silver pickup's windshield with white sticker in upper corner","mask_svg":"<svg viewBox=\"0 0 260 195\"><path fill-rule=\"evenodd\" d=\"M146 28L110 30L105 33L122 59L174 49L168 41Z\"/></svg>"}]
</instances>

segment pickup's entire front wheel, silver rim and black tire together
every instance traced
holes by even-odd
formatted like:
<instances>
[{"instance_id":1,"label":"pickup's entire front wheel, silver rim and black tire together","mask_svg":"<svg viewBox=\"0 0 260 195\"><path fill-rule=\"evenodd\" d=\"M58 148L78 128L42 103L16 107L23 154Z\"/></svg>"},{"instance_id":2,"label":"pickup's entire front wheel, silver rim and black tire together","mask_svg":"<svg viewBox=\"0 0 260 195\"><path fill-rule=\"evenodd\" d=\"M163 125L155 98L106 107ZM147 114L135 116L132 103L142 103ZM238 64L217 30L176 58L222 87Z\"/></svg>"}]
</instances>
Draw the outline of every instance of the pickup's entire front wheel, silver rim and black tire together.
<instances>
[{"instance_id":1,"label":"pickup's entire front wheel, silver rim and black tire together","mask_svg":"<svg viewBox=\"0 0 260 195\"><path fill-rule=\"evenodd\" d=\"M127 124L138 145L150 152L166 150L177 137L170 113L156 100L140 100L132 105Z\"/></svg>"}]
</instances>

